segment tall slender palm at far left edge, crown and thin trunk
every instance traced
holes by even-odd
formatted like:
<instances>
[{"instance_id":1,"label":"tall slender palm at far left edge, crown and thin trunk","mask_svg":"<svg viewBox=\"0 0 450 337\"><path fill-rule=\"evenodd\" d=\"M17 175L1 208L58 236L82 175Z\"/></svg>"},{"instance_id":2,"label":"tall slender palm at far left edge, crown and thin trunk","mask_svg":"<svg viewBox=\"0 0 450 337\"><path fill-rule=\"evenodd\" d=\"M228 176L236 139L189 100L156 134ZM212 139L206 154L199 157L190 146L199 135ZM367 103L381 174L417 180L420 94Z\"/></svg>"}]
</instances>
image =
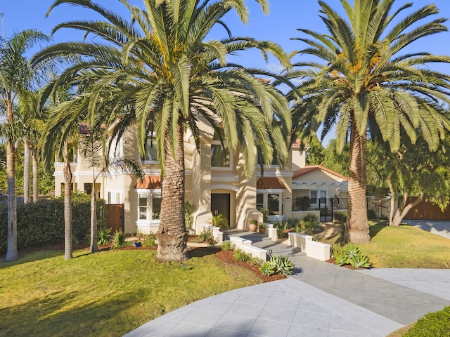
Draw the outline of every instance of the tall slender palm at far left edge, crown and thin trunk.
<instances>
[{"instance_id":1,"label":"tall slender palm at far left edge, crown and thin trunk","mask_svg":"<svg viewBox=\"0 0 450 337\"><path fill-rule=\"evenodd\" d=\"M6 124L14 124L13 104L21 93L31 86L30 70L25 52L35 43L46 41L46 36L35 29L13 34L9 39L0 39L0 104L6 111ZM6 138L6 174L8 181L8 249L6 261L17 260L17 201L15 194L15 132Z\"/></svg>"}]
</instances>

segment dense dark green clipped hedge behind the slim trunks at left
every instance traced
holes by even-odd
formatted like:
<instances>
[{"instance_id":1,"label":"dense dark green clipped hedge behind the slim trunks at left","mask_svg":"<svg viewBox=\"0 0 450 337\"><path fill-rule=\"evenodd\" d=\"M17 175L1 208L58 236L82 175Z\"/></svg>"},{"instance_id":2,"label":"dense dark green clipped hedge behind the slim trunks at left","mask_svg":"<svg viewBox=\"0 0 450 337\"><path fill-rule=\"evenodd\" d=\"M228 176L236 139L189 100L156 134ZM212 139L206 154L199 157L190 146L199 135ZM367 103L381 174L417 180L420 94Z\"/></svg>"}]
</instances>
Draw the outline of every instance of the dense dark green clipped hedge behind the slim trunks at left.
<instances>
[{"instance_id":1,"label":"dense dark green clipped hedge behind the slim trunks at left","mask_svg":"<svg viewBox=\"0 0 450 337\"><path fill-rule=\"evenodd\" d=\"M97 225L106 224L106 205L97 199ZM0 205L0 253L6 252L8 240L8 208ZM91 197L86 194L72 195L72 239L82 242L90 232ZM63 198L48 199L30 204L17 205L18 249L39 247L64 242Z\"/></svg>"}]
</instances>

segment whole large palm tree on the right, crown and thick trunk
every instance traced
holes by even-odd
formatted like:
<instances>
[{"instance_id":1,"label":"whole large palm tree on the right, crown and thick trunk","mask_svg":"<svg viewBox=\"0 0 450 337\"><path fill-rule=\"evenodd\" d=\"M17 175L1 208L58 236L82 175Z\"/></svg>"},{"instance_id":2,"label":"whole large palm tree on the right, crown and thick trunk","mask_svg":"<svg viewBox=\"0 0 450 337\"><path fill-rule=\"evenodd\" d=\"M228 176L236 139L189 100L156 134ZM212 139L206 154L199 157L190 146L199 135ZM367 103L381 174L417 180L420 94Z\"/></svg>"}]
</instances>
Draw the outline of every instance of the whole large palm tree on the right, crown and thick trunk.
<instances>
[{"instance_id":1,"label":"whole large palm tree on the right, crown and thick trunk","mask_svg":"<svg viewBox=\"0 0 450 337\"><path fill-rule=\"evenodd\" d=\"M380 138L394 152L400 135L416 140L420 129L430 150L436 150L450 129L442 103L449 103L449 76L430 67L450 62L448 56L407 52L413 42L446 31L442 18L423 22L438 13L428 5L399 18L411 4L392 11L393 0L341 1L342 18L319 1L328 32L299 29L307 48L295 53L323 62L299 62L291 78L300 79L300 96L293 106L293 124L300 136L323 126L322 137L336 128L342 150L349 138L349 218L351 242L369 242L366 212L366 141ZM347 20L346 20L347 19Z\"/></svg>"}]
</instances>

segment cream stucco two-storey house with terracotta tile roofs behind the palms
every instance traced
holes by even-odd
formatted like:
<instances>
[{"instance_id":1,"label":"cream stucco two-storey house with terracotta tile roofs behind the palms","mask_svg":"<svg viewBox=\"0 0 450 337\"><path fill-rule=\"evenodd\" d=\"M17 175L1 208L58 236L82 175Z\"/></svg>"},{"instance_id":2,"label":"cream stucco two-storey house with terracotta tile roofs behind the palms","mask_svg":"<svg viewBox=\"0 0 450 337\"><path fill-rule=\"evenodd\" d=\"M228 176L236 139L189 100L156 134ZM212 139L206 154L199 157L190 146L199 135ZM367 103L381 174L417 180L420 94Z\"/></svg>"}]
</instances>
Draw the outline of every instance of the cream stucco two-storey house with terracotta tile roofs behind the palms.
<instances>
[{"instance_id":1,"label":"cream stucco two-storey house with terracotta tile roofs behind the palms","mask_svg":"<svg viewBox=\"0 0 450 337\"><path fill-rule=\"evenodd\" d=\"M291 218L298 215L295 209L297 197L307 195L312 199L342 196L347 192L347 180L325 168L308 170L304 165L305 152L299 145L290 151L288 164L276 162L258 168L249 178L245 176L243 159L239 152L230 154L222 147L214 128L200 125L200 151L190 131L184 138L186 164L186 201L195 209L193 230L201 232L212 216L222 214L230 227L247 229L250 218L262 220L261 207L269 209L271 220ZM149 134L145 154L139 156L136 132L128 131L120 140L113 141L111 155L141 161L145 178L120 171L99 176L96 180L97 197L107 204L123 204L124 232L156 232L159 225L161 205L161 179L155 135ZM91 192L93 171L84 164L80 151L72 145L72 188ZM293 170L295 168L295 170ZM302 171L303 170L303 171ZM63 194L63 163L55 163L55 194ZM307 179L307 180L304 180ZM323 192L326 191L326 192Z\"/></svg>"}]
</instances>

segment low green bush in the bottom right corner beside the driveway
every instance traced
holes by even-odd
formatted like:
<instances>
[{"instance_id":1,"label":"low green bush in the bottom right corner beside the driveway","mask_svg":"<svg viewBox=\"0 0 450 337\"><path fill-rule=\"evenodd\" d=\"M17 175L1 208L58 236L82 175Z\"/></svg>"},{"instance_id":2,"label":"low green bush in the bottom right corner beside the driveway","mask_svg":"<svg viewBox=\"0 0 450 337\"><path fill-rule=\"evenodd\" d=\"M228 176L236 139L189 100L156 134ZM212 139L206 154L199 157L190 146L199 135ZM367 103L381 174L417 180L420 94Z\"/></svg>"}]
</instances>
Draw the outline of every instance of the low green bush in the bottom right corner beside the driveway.
<instances>
[{"instance_id":1,"label":"low green bush in the bottom right corner beside the driveway","mask_svg":"<svg viewBox=\"0 0 450 337\"><path fill-rule=\"evenodd\" d=\"M420 318L404 337L448 337L450 334L450 306L430 312Z\"/></svg>"}]
</instances>

